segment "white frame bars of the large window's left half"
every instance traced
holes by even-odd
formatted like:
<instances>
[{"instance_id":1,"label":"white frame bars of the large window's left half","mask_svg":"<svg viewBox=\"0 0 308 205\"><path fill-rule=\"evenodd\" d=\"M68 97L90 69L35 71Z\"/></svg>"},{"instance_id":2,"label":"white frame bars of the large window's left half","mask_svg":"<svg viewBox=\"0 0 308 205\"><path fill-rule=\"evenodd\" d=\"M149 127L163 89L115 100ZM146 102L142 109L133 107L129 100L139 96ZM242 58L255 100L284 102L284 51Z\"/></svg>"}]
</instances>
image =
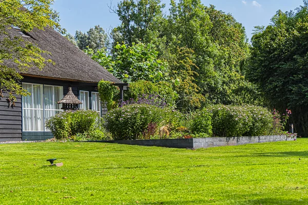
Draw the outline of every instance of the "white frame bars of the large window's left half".
<instances>
[{"instance_id":1,"label":"white frame bars of the large window's left half","mask_svg":"<svg viewBox=\"0 0 308 205\"><path fill-rule=\"evenodd\" d=\"M41 88L41 92L43 94L41 101L43 102L42 105L42 109L39 108L24 108L24 104L22 103L22 109L23 109L23 113L22 113L22 122L23 122L23 131L24 130L24 125L25 125L25 120L24 120L24 110L31 110L31 121L32 121L32 130L27 130L25 132L43 132L44 131L44 127L45 127L45 122L44 122L44 85L42 84L31 84L31 83L23 83L23 84L28 84L31 85L31 101L32 101L32 105L31 107L33 107L33 101L34 101L34 96L33 96L33 85L38 85L38 86L42 86ZM42 110L43 111L43 130L34 130L34 110Z\"/></svg>"}]
</instances>

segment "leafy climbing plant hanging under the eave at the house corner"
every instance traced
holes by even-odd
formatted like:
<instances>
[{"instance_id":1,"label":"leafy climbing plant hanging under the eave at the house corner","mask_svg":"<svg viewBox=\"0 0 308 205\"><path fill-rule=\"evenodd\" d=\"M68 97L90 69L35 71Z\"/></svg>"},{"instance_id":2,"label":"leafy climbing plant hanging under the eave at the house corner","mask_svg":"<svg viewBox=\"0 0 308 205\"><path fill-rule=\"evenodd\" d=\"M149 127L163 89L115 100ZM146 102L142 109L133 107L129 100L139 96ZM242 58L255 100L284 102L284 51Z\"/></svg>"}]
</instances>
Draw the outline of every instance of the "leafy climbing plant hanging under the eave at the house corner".
<instances>
[{"instance_id":1,"label":"leafy climbing plant hanging under the eave at the house corner","mask_svg":"<svg viewBox=\"0 0 308 205\"><path fill-rule=\"evenodd\" d=\"M101 80L98 84L98 89L101 101L107 104L108 110L117 107L118 104L114 101L114 97L119 93L119 88L114 86L114 83Z\"/></svg>"}]
</instances>

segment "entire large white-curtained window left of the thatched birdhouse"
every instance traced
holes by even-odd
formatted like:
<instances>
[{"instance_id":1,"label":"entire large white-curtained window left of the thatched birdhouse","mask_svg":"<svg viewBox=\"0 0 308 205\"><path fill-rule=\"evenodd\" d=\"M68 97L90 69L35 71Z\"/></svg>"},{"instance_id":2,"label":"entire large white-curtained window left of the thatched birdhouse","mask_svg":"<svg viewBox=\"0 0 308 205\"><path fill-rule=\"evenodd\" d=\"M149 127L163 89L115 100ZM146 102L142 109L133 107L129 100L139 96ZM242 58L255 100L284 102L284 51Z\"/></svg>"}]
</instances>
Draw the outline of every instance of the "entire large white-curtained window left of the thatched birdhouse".
<instances>
[{"instance_id":1,"label":"entire large white-curtained window left of the thatched birdhouse","mask_svg":"<svg viewBox=\"0 0 308 205\"><path fill-rule=\"evenodd\" d=\"M57 101L63 98L63 87L23 83L31 95L23 96L23 131L44 131L45 121L61 112Z\"/></svg>"}]
</instances>

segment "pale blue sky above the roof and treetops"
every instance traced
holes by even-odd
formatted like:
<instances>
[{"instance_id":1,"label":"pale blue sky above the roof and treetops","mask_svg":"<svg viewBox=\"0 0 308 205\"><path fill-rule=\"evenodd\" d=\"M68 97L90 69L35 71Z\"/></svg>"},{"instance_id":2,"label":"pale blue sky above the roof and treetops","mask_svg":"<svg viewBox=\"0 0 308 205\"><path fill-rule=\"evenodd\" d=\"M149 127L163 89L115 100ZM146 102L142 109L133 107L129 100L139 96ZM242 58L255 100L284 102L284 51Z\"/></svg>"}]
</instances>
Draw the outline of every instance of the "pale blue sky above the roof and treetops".
<instances>
[{"instance_id":1,"label":"pale blue sky above the roof and treetops","mask_svg":"<svg viewBox=\"0 0 308 205\"><path fill-rule=\"evenodd\" d=\"M116 6L120 0L113 0ZM231 13L246 29L248 38L252 36L254 26L266 26L277 10L290 11L303 4L302 0L201 0L208 6L213 4L218 10ZM170 0L162 0L166 4L166 12ZM60 13L61 26L72 35L76 30L88 31L95 25L105 30L120 24L117 14L110 13L107 5L110 0L55 0L52 6Z\"/></svg>"}]
</instances>

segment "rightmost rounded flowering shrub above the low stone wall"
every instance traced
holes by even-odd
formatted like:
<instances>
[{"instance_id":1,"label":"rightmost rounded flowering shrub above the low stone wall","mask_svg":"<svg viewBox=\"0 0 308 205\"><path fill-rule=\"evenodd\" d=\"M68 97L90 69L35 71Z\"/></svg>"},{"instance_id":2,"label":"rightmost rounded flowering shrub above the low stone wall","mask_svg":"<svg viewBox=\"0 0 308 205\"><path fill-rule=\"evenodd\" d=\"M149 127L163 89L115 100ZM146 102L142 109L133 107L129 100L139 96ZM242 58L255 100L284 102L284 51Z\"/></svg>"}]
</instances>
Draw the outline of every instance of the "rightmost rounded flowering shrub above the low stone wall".
<instances>
[{"instance_id":1,"label":"rightmost rounded flowering shrub above the low stone wall","mask_svg":"<svg viewBox=\"0 0 308 205\"><path fill-rule=\"evenodd\" d=\"M260 136L273 134L273 115L267 109L257 106L244 106L244 109L251 114L252 124L249 131L244 135Z\"/></svg>"}]
</instances>

